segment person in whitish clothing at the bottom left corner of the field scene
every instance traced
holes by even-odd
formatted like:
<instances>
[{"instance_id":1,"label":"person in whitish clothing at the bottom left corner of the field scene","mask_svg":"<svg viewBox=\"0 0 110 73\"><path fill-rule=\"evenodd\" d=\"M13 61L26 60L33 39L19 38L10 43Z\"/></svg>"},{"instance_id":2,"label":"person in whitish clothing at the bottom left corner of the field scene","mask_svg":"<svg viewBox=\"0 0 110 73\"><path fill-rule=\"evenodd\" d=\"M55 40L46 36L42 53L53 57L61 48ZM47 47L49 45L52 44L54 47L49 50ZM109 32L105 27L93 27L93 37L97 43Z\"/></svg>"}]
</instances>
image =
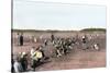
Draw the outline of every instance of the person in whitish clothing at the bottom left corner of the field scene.
<instances>
[{"instance_id":1,"label":"person in whitish clothing at the bottom left corner of the field scene","mask_svg":"<svg viewBox=\"0 0 110 73\"><path fill-rule=\"evenodd\" d=\"M23 68L22 68L22 65L21 65L21 62L20 62L20 58L19 58L19 57L15 58L13 68L14 68L14 72L15 72L15 73L23 72Z\"/></svg>"}]
</instances>

